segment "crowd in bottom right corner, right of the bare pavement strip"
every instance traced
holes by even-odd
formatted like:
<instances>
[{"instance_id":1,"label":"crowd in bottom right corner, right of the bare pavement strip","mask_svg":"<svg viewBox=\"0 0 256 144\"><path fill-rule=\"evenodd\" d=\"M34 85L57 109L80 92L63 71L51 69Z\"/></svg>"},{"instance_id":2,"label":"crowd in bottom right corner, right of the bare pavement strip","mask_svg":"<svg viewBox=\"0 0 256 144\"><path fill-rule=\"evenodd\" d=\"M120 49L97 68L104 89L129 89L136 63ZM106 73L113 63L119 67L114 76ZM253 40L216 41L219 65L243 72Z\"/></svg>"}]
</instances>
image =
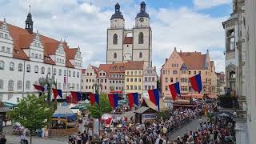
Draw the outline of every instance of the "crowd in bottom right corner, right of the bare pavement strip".
<instances>
[{"instance_id":1,"label":"crowd in bottom right corner, right of the bare pavement strip","mask_svg":"<svg viewBox=\"0 0 256 144\"><path fill-rule=\"evenodd\" d=\"M232 144L235 142L234 120L215 117L213 122L202 122L196 131L189 131L171 144Z\"/></svg>"}]
</instances>

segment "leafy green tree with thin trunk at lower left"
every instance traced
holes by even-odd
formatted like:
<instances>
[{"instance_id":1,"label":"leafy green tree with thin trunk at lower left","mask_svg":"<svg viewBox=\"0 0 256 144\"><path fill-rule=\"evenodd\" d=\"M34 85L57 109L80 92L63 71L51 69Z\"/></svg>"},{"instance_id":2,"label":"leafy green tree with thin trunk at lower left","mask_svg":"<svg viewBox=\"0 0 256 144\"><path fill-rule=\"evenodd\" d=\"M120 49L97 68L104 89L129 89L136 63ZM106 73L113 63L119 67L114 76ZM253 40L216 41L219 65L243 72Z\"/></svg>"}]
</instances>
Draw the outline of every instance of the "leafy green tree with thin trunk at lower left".
<instances>
[{"instance_id":1,"label":"leafy green tree with thin trunk at lower left","mask_svg":"<svg viewBox=\"0 0 256 144\"><path fill-rule=\"evenodd\" d=\"M45 102L46 95L37 98L34 94L18 99L17 108L10 112L14 122L20 122L30 130L30 144L32 132L46 126L46 120L54 113L52 106Z\"/></svg>"}]
</instances>

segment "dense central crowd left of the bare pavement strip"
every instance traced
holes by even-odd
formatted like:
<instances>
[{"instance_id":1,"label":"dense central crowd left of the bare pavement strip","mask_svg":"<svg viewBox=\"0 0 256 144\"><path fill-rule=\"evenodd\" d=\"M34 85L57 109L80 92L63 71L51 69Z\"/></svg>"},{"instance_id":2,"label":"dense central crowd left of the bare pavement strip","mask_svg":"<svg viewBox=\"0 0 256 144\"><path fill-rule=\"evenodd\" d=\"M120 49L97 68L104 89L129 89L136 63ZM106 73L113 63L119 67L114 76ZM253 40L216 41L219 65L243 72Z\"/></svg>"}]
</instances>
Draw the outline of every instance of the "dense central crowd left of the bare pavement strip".
<instances>
[{"instance_id":1,"label":"dense central crowd left of the bare pavement strip","mask_svg":"<svg viewBox=\"0 0 256 144\"><path fill-rule=\"evenodd\" d=\"M127 118L118 118L112 130L105 129L102 134L103 143L156 143L170 142L167 134L203 114L202 108L178 109L170 113L170 118L154 120L154 122L126 122ZM121 126L120 126L121 125Z\"/></svg>"}]
</instances>

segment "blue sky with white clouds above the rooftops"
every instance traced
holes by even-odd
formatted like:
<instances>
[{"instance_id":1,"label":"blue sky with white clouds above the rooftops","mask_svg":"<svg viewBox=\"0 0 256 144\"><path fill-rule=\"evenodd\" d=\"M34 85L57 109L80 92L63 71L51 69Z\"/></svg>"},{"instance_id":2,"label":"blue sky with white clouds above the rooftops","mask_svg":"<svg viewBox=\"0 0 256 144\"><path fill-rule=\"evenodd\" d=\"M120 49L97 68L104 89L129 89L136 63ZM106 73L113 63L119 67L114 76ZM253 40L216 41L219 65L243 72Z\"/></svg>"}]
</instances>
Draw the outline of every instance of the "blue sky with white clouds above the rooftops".
<instances>
[{"instance_id":1,"label":"blue sky with white clouds above the rooftops","mask_svg":"<svg viewBox=\"0 0 256 144\"><path fill-rule=\"evenodd\" d=\"M83 67L106 63L106 30L119 2L126 28L134 26L141 0L0 0L0 19L25 26L31 5L34 31L82 50ZM232 0L145 0L153 32L153 65L158 74L174 47L178 51L210 50L216 71L224 71L222 22Z\"/></svg>"}]
</instances>

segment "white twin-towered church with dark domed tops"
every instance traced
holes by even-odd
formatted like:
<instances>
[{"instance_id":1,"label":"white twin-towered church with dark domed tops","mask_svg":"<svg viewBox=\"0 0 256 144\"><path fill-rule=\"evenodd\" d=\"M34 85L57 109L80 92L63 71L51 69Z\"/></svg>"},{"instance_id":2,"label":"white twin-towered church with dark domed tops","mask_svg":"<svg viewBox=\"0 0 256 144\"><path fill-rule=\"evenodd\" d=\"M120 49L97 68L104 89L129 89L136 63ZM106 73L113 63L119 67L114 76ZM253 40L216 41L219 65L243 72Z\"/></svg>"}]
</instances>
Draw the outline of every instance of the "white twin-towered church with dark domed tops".
<instances>
[{"instance_id":1,"label":"white twin-towered church with dark domed tops","mask_svg":"<svg viewBox=\"0 0 256 144\"><path fill-rule=\"evenodd\" d=\"M132 29L125 28L125 19L117 3L107 29L106 63L130 61L144 61L146 67L152 66L152 31L145 2L141 3Z\"/></svg>"}]
</instances>

